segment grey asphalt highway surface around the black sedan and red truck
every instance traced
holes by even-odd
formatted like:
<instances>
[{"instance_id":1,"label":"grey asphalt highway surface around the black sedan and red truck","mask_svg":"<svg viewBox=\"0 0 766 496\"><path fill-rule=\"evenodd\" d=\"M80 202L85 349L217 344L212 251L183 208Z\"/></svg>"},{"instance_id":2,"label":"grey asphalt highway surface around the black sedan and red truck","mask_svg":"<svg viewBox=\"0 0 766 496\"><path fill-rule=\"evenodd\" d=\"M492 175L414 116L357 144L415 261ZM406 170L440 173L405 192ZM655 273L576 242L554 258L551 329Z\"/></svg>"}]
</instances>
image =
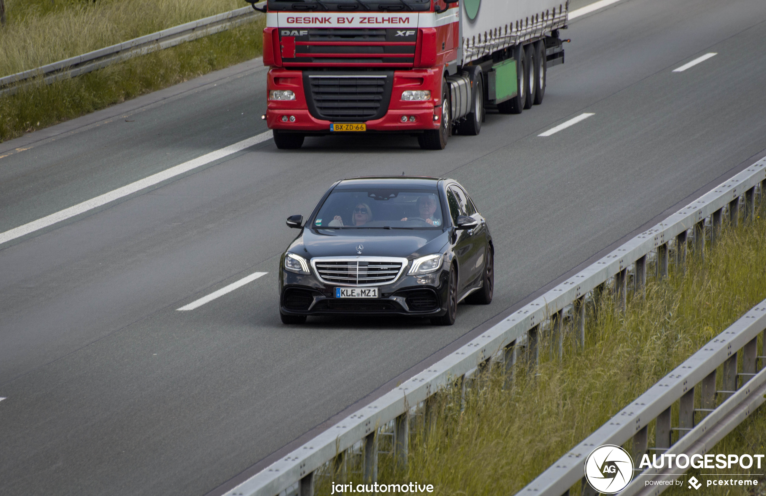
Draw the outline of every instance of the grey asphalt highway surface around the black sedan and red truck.
<instances>
[{"instance_id":1,"label":"grey asphalt highway surface around the black sedan and red truck","mask_svg":"<svg viewBox=\"0 0 766 496\"><path fill-rule=\"evenodd\" d=\"M298 152L264 143L0 251L0 489L205 494L523 301L766 148L764 20L758 2L618 3L565 31L568 63L548 74L542 106L490 114L447 153L410 138L307 139ZM719 55L672 72L709 51ZM113 121L0 159L11 189L27 191L0 217L15 227L31 220L27 197L48 214L257 134L258 119L212 125L228 122L220 114L234 106L215 111L226 95L263 94L252 71L136 114L144 134ZM583 112L594 116L538 137ZM175 133L175 160L162 162L172 139L142 145L152 132ZM111 146L139 158L123 171ZM47 166L61 175L47 180ZM496 302L461 305L453 328L280 325L276 260L295 234L283 219L308 214L336 178L402 170L456 178L476 197L502 246ZM175 311L256 271L269 273Z\"/></svg>"}]
</instances>

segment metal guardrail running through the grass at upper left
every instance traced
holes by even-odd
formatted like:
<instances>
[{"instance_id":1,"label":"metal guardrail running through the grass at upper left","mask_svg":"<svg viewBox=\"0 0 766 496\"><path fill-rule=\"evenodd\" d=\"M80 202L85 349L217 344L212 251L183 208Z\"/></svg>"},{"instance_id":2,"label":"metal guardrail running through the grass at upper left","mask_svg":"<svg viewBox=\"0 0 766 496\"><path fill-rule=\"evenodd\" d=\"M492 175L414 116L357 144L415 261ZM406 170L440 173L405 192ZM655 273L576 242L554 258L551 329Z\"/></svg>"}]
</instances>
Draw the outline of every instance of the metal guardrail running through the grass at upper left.
<instances>
[{"instance_id":1,"label":"metal guardrail running through the grass at upper left","mask_svg":"<svg viewBox=\"0 0 766 496\"><path fill-rule=\"evenodd\" d=\"M129 58L175 47L175 45L185 41L226 31L240 24L254 21L262 15L251 7L237 8L198 21L187 22L175 26L175 28L163 29L156 33L133 38L133 40L123 41L123 43L104 47L87 54L77 55L77 57L59 60L53 64L0 77L0 96L14 94L21 87L32 83L32 80L38 80L38 78L43 78L45 83L51 84L57 80L80 76L80 74L89 73Z\"/></svg>"}]
</instances>

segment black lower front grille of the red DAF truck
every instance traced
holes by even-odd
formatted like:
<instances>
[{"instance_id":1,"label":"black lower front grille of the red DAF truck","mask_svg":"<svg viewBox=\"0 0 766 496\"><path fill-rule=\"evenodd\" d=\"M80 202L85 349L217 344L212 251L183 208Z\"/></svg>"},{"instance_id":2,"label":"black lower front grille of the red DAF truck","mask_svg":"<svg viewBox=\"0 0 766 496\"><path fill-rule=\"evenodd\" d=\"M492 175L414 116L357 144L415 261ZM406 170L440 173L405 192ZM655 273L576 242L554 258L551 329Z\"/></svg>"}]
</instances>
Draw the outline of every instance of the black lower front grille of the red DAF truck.
<instances>
[{"instance_id":1,"label":"black lower front grille of the red DAF truck","mask_svg":"<svg viewBox=\"0 0 766 496\"><path fill-rule=\"evenodd\" d=\"M393 73L303 73L309 112L329 121L381 119L388 110Z\"/></svg>"}]
</instances>

